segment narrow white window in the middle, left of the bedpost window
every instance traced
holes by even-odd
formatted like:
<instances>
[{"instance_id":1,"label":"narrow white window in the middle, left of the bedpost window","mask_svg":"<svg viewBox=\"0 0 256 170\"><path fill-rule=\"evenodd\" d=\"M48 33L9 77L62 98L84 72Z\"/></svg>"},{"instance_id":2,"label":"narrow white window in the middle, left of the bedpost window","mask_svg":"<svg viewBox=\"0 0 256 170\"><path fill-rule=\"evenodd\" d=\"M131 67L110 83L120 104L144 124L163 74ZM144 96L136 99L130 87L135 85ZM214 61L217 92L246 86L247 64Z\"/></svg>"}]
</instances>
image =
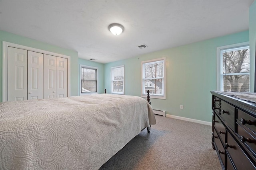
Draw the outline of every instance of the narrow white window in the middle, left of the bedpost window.
<instances>
[{"instance_id":1,"label":"narrow white window in the middle, left of the bedpost window","mask_svg":"<svg viewBox=\"0 0 256 170\"><path fill-rule=\"evenodd\" d=\"M124 65L111 68L111 93L124 94Z\"/></svg>"}]
</instances>

